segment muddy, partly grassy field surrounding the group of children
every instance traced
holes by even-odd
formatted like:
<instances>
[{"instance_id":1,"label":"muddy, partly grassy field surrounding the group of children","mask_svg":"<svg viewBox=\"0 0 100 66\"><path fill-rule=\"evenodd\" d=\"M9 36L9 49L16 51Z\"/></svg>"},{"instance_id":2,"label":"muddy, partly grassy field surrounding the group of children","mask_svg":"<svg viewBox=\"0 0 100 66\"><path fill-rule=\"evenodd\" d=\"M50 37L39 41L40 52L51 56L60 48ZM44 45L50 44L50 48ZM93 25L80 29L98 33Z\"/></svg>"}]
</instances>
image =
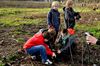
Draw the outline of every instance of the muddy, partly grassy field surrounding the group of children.
<instances>
[{"instance_id":1,"label":"muddy, partly grassy field surrounding the group of children","mask_svg":"<svg viewBox=\"0 0 100 66\"><path fill-rule=\"evenodd\" d=\"M17 54L26 40L32 37L39 29L47 28L47 13L50 8L0 8L0 66L6 62L14 66L41 66L40 62L31 61L26 54ZM97 38L100 38L100 9L94 11L88 7L75 7L75 11L81 14L81 20L76 21L76 35L79 39L77 53L74 56L74 63L82 64L82 51L85 51L85 40L83 33L88 31ZM64 25L63 11L61 13L61 26ZM83 48L83 50L82 50ZM100 64L100 46L90 46L90 65ZM88 64L88 51L84 54L84 64ZM6 58L6 60L4 60ZM27 60L29 61L27 61ZM67 63L59 63L57 66L67 66ZM74 64L74 66L75 66Z\"/></svg>"}]
</instances>

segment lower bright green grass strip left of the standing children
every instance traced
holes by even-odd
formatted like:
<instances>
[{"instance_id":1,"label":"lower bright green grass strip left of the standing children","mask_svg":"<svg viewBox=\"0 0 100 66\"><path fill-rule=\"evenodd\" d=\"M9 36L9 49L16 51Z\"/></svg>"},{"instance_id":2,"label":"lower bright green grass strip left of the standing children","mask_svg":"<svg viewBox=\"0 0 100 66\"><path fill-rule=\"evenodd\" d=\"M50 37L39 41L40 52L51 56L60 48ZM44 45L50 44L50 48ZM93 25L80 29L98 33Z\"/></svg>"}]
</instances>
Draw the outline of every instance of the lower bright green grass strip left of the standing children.
<instances>
[{"instance_id":1,"label":"lower bright green grass strip left of the standing children","mask_svg":"<svg viewBox=\"0 0 100 66\"><path fill-rule=\"evenodd\" d=\"M38 25L41 24L43 22L43 19L22 19L22 18L16 18L16 17L12 17L12 18L3 18L0 19L0 23L3 24L4 26L20 26L20 25L29 25L29 24L33 24L33 25Z\"/></svg>"}]
</instances>

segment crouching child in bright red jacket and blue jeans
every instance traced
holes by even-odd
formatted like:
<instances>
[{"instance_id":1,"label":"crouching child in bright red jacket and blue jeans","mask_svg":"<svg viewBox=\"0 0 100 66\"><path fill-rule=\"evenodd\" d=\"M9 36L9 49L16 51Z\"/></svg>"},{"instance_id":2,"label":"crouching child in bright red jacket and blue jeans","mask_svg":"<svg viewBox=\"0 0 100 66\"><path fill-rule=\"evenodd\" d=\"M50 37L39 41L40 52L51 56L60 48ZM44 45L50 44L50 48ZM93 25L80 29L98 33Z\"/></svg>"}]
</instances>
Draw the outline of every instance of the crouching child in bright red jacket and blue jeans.
<instances>
[{"instance_id":1,"label":"crouching child in bright red jacket and blue jeans","mask_svg":"<svg viewBox=\"0 0 100 66\"><path fill-rule=\"evenodd\" d=\"M43 64L52 64L52 62L47 58L47 55L56 57L56 54L52 52L49 46L45 43L49 39L50 33L48 31L37 33L24 44L23 48L30 55L39 53Z\"/></svg>"}]
</instances>

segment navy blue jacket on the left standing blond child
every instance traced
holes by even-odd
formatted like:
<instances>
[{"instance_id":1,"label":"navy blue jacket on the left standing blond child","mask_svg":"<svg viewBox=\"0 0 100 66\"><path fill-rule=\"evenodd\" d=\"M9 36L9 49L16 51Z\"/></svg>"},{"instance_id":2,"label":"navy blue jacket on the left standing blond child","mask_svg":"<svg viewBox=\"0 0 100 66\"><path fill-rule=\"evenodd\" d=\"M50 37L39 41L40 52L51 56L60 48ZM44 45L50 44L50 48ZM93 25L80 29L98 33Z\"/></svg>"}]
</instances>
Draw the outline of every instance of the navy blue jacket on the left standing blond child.
<instances>
[{"instance_id":1,"label":"navy blue jacket on the left standing blond child","mask_svg":"<svg viewBox=\"0 0 100 66\"><path fill-rule=\"evenodd\" d=\"M47 16L47 23L49 26L53 26L56 31L59 31L60 26L60 13L58 10L51 9Z\"/></svg>"}]
</instances>

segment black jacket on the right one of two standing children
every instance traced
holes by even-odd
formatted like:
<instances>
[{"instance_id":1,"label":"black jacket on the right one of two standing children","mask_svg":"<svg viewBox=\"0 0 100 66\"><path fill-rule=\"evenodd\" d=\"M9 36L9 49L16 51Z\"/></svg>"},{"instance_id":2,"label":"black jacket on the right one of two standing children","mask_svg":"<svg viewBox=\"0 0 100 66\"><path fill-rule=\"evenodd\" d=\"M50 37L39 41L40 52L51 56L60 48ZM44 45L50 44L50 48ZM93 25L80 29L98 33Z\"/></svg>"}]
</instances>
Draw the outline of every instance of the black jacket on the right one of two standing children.
<instances>
[{"instance_id":1,"label":"black jacket on the right one of two standing children","mask_svg":"<svg viewBox=\"0 0 100 66\"><path fill-rule=\"evenodd\" d=\"M79 15L79 12L75 12L73 8L63 8L64 11L64 20L65 20L65 25L66 28L74 28L75 26L75 17L77 20L81 18Z\"/></svg>"}]
</instances>

